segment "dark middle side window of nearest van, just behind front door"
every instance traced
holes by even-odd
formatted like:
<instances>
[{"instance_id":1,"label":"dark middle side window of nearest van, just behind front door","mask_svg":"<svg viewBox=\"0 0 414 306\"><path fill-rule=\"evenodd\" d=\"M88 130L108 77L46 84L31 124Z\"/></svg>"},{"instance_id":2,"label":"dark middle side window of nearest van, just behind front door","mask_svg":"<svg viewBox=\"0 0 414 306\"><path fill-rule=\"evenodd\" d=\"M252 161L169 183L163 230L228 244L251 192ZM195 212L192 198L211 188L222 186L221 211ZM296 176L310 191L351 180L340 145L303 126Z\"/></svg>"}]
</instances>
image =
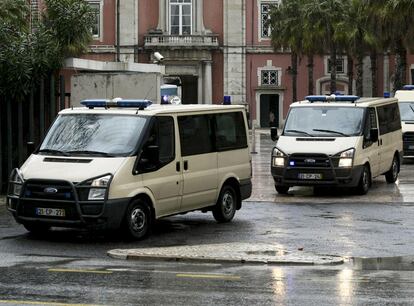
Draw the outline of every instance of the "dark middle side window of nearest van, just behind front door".
<instances>
[{"instance_id":1,"label":"dark middle side window of nearest van, just behind front door","mask_svg":"<svg viewBox=\"0 0 414 306\"><path fill-rule=\"evenodd\" d=\"M209 116L179 116L178 127L182 156L214 152Z\"/></svg>"}]
</instances>

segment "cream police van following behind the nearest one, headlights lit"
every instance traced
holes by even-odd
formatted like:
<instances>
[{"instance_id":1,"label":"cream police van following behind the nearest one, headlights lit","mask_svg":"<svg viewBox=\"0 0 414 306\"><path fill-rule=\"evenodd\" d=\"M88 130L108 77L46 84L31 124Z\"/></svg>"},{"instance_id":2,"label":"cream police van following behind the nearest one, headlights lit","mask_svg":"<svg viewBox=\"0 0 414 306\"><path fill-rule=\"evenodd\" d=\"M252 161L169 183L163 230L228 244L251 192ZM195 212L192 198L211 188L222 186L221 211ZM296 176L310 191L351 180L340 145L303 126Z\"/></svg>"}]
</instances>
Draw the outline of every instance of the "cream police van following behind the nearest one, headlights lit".
<instances>
[{"instance_id":1,"label":"cream police van following behind the nearest one, headlights lit","mask_svg":"<svg viewBox=\"0 0 414 306\"><path fill-rule=\"evenodd\" d=\"M292 186L346 186L365 194L372 178L397 180L402 153L397 99L308 96L290 106L272 152L278 193ZM272 139L277 134L272 133Z\"/></svg>"}]
</instances>

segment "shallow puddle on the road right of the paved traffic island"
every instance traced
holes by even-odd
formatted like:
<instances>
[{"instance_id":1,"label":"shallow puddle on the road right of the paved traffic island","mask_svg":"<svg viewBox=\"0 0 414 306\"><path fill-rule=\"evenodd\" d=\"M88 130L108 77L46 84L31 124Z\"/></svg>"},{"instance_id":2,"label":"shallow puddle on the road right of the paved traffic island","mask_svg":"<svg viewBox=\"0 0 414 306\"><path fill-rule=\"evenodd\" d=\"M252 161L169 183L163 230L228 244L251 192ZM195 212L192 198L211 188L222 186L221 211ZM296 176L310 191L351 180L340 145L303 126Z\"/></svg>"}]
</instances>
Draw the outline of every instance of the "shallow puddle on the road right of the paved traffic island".
<instances>
[{"instance_id":1,"label":"shallow puddle on the road right of the paved traffic island","mask_svg":"<svg viewBox=\"0 0 414 306\"><path fill-rule=\"evenodd\" d=\"M352 258L356 270L414 271L414 256Z\"/></svg>"}]
</instances>

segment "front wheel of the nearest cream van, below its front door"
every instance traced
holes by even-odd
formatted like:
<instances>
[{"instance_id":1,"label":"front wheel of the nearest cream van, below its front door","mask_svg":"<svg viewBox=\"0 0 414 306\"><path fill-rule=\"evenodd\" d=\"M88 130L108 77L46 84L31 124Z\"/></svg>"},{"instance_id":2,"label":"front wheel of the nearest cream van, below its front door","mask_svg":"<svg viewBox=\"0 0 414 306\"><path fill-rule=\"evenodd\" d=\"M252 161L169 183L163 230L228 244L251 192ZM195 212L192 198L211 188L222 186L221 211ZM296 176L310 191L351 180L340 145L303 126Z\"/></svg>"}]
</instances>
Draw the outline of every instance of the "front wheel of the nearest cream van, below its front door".
<instances>
[{"instance_id":1,"label":"front wheel of the nearest cream van, below its front door","mask_svg":"<svg viewBox=\"0 0 414 306\"><path fill-rule=\"evenodd\" d=\"M151 212L143 200L134 200L129 204L123 222L123 231L127 238L140 240L147 237L151 228Z\"/></svg>"}]
</instances>

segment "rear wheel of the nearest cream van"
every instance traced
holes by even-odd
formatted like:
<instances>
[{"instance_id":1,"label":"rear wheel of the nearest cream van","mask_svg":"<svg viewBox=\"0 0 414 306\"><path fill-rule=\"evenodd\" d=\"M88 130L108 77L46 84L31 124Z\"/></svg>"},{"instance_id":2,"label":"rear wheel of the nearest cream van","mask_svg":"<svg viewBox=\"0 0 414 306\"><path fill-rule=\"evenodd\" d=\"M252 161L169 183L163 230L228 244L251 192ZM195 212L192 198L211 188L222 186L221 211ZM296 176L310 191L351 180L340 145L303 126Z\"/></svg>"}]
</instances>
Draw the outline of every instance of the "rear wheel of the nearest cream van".
<instances>
[{"instance_id":1,"label":"rear wheel of the nearest cream van","mask_svg":"<svg viewBox=\"0 0 414 306\"><path fill-rule=\"evenodd\" d=\"M217 222L230 222L237 209L237 195L234 188L225 185L220 191L219 198L213 208L213 216Z\"/></svg>"}]
</instances>

